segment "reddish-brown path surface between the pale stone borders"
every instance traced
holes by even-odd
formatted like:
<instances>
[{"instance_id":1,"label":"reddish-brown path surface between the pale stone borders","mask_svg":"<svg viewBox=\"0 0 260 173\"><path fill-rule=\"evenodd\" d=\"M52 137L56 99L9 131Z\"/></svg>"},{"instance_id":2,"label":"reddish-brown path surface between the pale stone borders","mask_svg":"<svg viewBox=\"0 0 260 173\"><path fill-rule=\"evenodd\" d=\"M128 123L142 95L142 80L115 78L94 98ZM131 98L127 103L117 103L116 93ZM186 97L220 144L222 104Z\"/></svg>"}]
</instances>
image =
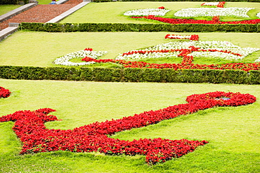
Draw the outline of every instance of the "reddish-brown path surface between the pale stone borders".
<instances>
[{"instance_id":1,"label":"reddish-brown path surface between the pale stone borders","mask_svg":"<svg viewBox=\"0 0 260 173\"><path fill-rule=\"evenodd\" d=\"M77 4L82 3L82 0L70 0L65 2L65 4L57 5L37 5L24 11L18 15L13 16L13 18L5 20L0 23L0 31L8 27L9 22L39 22L45 23L48 20L55 18L56 16L70 10L70 8L77 6Z\"/></svg>"}]
</instances>

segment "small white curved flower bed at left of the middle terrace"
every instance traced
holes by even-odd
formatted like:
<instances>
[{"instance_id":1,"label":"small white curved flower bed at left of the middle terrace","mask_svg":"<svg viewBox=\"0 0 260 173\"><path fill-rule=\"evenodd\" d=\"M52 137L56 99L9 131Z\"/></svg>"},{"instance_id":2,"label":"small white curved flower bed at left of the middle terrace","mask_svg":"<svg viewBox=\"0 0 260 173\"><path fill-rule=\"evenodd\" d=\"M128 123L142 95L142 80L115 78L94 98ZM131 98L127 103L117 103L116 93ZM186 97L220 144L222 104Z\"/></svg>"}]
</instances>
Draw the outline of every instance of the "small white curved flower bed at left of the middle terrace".
<instances>
[{"instance_id":1,"label":"small white curved flower bed at left of the middle terrace","mask_svg":"<svg viewBox=\"0 0 260 173\"><path fill-rule=\"evenodd\" d=\"M107 51L91 51L91 50L79 50L75 53L69 53L64 55L63 57L58 57L54 64L58 65L66 65L66 66L79 66L79 65L89 65L95 62L70 62L70 60L74 58L84 58L84 57L92 57L97 59L98 57L105 55L108 53Z\"/></svg>"}]
</instances>

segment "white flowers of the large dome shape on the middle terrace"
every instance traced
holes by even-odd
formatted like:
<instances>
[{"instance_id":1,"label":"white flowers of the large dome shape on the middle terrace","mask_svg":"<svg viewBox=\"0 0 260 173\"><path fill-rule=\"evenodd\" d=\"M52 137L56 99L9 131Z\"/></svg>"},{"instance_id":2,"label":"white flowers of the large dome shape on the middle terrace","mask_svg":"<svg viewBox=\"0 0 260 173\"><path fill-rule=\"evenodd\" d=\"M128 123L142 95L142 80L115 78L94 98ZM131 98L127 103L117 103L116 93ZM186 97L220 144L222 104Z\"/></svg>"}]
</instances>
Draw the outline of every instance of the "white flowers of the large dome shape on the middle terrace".
<instances>
[{"instance_id":1,"label":"white flowers of the large dome shape on the middle terrace","mask_svg":"<svg viewBox=\"0 0 260 173\"><path fill-rule=\"evenodd\" d=\"M208 50L208 52L193 52L189 55L195 57L214 57L223 58L226 60L242 60L250 53L260 50L259 48L240 48L228 41L171 41L169 43L162 43L157 46L146 48L143 50L171 50L171 49L190 49L190 46L200 48L201 50ZM238 53L239 55L233 55L231 53L209 52L209 50L228 50L231 53ZM138 50L131 50L138 51ZM129 51L129 52L131 52ZM145 54L132 54L132 55L118 55L116 60L134 60L143 58L160 58L160 57L177 57L180 52L172 53L145 53Z\"/></svg>"}]
</instances>

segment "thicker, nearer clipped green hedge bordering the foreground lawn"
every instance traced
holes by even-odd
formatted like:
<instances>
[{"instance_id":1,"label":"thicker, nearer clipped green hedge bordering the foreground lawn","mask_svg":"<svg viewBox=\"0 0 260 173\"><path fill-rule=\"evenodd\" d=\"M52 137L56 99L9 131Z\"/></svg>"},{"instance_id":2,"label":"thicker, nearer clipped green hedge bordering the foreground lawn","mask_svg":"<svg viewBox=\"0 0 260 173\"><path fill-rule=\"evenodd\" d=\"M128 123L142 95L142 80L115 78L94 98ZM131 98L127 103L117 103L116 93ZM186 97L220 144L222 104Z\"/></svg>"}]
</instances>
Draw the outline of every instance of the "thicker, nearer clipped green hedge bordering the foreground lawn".
<instances>
[{"instance_id":1,"label":"thicker, nearer clipped green hedge bordering the foreground lawn","mask_svg":"<svg viewBox=\"0 0 260 173\"><path fill-rule=\"evenodd\" d=\"M25 80L260 84L260 71L209 69L104 69L0 66L0 78Z\"/></svg>"}]
</instances>

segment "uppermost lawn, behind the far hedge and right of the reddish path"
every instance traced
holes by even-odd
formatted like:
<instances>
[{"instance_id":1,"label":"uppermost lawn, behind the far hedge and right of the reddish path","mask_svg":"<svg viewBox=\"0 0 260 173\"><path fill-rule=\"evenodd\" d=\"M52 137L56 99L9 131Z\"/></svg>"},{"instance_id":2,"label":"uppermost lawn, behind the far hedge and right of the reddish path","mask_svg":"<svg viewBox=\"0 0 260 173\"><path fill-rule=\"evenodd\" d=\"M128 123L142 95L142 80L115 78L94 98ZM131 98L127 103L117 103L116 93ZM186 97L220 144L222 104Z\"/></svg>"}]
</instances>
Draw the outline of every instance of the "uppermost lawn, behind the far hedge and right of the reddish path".
<instances>
[{"instance_id":1,"label":"uppermost lawn, behind the far hedge and right of the reddish path","mask_svg":"<svg viewBox=\"0 0 260 173\"><path fill-rule=\"evenodd\" d=\"M129 16L125 16L126 11L143 9L143 8L158 8L164 6L171 10L164 17L176 18L174 13L183 8L207 8L209 6L201 6L203 2L108 2L108 3L91 3L79 9L72 15L68 16L61 23L158 23L152 20L135 20ZM255 8L247 15L250 18L230 18L221 17L221 20L249 20L256 18L256 13L260 12L259 3L245 3L245 2L227 2L224 7L240 7L240 8ZM198 18L196 18L198 19ZM211 20L209 17L200 19Z\"/></svg>"}]
</instances>

